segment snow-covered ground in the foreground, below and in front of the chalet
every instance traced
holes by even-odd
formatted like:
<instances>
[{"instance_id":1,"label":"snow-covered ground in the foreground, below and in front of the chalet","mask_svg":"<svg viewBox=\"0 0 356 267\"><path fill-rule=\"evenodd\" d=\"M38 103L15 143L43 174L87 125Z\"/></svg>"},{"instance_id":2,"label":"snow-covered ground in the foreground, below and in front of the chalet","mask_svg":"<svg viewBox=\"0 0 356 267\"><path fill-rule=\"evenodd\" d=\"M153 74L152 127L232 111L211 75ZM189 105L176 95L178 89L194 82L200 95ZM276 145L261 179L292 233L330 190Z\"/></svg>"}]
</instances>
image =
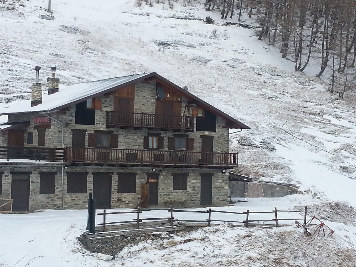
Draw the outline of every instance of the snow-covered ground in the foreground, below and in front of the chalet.
<instances>
[{"instance_id":1,"label":"snow-covered ground in the foreground, below and in front of the chalet","mask_svg":"<svg viewBox=\"0 0 356 267\"><path fill-rule=\"evenodd\" d=\"M295 206L321 205L321 200L309 195L290 195L283 198L256 198L235 206L215 207L214 210L242 212L295 210ZM342 208L344 205L340 205ZM347 207L346 207L347 208ZM129 209L115 209L127 211ZM205 209L197 209L205 210ZM319 208L317 210L320 210ZM99 212L99 210L98 210ZM308 219L314 215L308 214ZM230 227L211 226L192 232L181 232L171 239L149 239L127 246L111 262L98 260L86 251L76 236L85 231L86 210L45 210L30 214L0 214L1 239L0 266L354 266L356 262L356 211L347 217L336 215L332 207L323 210L325 223L335 230L332 236L306 236L295 226ZM253 215L253 216L251 216ZM318 215L318 214L315 214ZM141 218L165 217L167 211L144 211ZM243 220L244 215L213 213L212 219ZM242 217L239 217L242 216ZM175 213L185 220L206 219L201 213ZM253 217L253 218L252 218ZM271 220L273 214L250 214L250 219ZM284 213L283 218L303 218L303 214ZM111 215L107 220L131 220L132 214ZM321 218L323 219L323 218ZM102 216L96 216L96 223ZM344 222L344 223L343 223ZM293 223L293 222L290 222ZM352 226L352 223L354 226ZM310 230L313 232L312 230ZM326 232L328 233L328 232ZM22 258L23 257L23 258ZM22 258L22 259L21 259ZM8 265L6 265L8 264ZM289 265L288 265L289 264Z\"/></svg>"}]
</instances>

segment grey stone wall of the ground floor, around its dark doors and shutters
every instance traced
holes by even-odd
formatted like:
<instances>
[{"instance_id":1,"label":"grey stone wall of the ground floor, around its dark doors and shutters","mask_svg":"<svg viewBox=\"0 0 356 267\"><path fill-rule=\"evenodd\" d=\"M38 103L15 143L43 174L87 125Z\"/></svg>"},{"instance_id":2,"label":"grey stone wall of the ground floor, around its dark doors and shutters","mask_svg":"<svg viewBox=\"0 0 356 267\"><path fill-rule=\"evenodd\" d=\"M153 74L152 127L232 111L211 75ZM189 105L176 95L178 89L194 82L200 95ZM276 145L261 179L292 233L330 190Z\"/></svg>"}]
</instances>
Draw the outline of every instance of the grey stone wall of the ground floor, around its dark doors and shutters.
<instances>
[{"instance_id":1,"label":"grey stone wall of the ground floor, around its dark doors and shutters","mask_svg":"<svg viewBox=\"0 0 356 267\"><path fill-rule=\"evenodd\" d=\"M11 172L32 172L30 175L30 210L36 209L61 209L62 208L62 167L52 163L35 164L23 167L1 167L4 171L2 178L2 195L0 198L11 197ZM40 194L39 172L57 172L54 194ZM67 193L67 172L88 172L87 193ZM111 207L112 208L135 208L141 199L141 184L147 182L146 173L150 168L115 168L115 167L79 167L68 166L63 169L64 208L85 209L87 208L88 193L93 192L93 172L112 173L111 180ZM117 192L117 173L136 172L136 193ZM228 174L222 174L220 170L202 169L157 169L158 177L158 205L175 206L184 205L200 206L200 173L212 173L212 206L228 204L229 182ZM173 190L172 173L189 173L187 190Z\"/></svg>"}]
</instances>

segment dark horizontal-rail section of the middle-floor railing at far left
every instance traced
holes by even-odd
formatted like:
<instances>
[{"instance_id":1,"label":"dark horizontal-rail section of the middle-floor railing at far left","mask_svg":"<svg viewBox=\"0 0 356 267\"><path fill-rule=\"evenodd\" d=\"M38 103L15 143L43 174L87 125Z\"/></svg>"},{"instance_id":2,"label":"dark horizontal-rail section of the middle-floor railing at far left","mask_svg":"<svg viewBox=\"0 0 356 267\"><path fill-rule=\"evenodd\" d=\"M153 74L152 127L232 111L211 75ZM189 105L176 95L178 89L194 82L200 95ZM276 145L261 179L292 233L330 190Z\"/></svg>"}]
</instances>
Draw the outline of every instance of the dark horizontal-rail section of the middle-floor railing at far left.
<instances>
[{"instance_id":1,"label":"dark horizontal-rail section of the middle-floor railing at far left","mask_svg":"<svg viewBox=\"0 0 356 267\"><path fill-rule=\"evenodd\" d=\"M0 147L2 159L32 159L38 161L64 161L64 148Z\"/></svg>"}]
</instances>

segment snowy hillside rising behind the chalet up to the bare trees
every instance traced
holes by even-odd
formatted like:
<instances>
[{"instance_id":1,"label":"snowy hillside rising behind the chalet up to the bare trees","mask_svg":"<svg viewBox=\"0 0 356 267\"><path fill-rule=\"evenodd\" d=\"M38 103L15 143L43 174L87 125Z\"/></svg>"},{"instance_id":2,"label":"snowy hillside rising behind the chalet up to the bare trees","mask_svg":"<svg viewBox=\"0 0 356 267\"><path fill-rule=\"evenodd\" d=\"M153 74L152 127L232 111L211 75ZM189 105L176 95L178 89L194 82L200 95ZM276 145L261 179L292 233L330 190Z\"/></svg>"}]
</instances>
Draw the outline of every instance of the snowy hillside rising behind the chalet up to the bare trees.
<instances>
[{"instance_id":1,"label":"snowy hillside rising behind the chalet up to the bare trees","mask_svg":"<svg viewBox=\"0 0 356 267\"><path fill-rule=\"evenodd\" d=\"M321 80L293 72L293 63L252 30L219 26L219 14L196 1L152 7L53 1L55 19L45 20L47 2L0 4L3 107L29 99L37 65L42 82L56 65L66 85L155 71L251 127L231 135L231 152L240 152L238 172L298 182L324 199L356 205L353 100L330 96ZM218 25L201 21L208 15Z\"/></svg>"}]
</instances>

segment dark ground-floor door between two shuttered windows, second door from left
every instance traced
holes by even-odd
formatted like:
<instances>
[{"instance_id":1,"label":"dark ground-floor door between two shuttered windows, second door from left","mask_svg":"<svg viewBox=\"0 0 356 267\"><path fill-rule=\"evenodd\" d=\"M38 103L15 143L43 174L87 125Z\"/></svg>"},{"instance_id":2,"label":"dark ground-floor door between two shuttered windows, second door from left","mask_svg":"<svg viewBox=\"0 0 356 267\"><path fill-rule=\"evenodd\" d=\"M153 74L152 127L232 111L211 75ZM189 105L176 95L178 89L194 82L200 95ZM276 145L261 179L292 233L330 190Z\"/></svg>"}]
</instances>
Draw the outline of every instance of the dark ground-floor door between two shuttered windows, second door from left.
<instances>
[{"instance_id":1,"label":"dark ground-floor door between two shuttered windows, second door from left","mask_svg":"<svg viewBox=\"0 0 356 267\"><path fill-rule=\"evenodd\" d=\"M111 208L111 173L93 173L93 199L97 209Z\"/></svg>"}]
</instances>

